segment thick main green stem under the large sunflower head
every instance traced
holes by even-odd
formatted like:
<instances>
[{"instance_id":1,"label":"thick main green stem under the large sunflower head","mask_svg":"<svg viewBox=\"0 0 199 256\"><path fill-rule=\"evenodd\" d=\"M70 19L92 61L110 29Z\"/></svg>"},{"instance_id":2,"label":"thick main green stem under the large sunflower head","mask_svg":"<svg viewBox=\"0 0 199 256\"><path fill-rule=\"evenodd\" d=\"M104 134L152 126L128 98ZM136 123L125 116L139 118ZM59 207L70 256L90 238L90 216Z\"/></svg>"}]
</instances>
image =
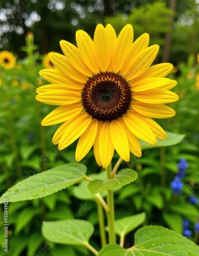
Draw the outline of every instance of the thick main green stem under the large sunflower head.
<instances>
[{"instance_id":1,"label":"thick main green stem under the large sunflower head","mask_svg":"<svg viewBox=\"0 0 199 256\"><path fill-rule=\"evenodd\" d=\"M111 163L106 168L106 175L108 180L111 179ZM115 212L114 212L113 189L107 190L107 204L109 209L107 212L109 244L114 244L116 243L116 236L115 236L115 227L114 227Z\"/></svg>"}]
</instances>

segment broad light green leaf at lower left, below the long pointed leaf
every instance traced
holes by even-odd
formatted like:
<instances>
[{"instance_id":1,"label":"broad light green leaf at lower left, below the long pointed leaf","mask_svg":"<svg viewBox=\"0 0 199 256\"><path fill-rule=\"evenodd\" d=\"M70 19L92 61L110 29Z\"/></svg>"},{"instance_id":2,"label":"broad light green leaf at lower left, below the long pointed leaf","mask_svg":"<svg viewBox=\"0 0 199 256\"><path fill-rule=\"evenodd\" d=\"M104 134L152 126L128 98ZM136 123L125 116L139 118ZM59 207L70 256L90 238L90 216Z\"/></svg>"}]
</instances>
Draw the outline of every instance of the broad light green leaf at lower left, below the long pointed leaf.
<instances>
[{"instance_id":1,"label":"broad light green leaf at lower left, below the long pointed leaf","mask_svg":"<svg viewBox=\"0 0 199 256\"><path fill-rule=\"evenodd\" d=\"M85 220L44 221L41 229L51 242L84 246L94 232L94 226Z\"/></svg>"}]
</instances>

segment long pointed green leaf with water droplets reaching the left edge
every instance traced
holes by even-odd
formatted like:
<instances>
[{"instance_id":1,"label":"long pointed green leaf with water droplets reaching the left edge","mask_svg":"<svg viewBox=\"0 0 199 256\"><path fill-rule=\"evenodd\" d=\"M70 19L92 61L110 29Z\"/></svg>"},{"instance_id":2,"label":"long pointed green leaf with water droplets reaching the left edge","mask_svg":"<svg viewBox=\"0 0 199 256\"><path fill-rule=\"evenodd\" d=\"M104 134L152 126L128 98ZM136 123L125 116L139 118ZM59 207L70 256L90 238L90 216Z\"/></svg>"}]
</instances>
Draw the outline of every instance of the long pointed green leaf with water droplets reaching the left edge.
<instances>
[{"instance_id":1,"label":"long pointed green leaf with water droplets reaching the left edge","mask_svg":"<svg viewBox=\"0 0 199 256\"><path fill-rule=\"evenodd\" d=\"M51 195L63 188L85 180L86 166L79 163L64 164L35 174L8 189L0 203L8 197L9 202L31 200Z\"/></svg>"}]
</instances>

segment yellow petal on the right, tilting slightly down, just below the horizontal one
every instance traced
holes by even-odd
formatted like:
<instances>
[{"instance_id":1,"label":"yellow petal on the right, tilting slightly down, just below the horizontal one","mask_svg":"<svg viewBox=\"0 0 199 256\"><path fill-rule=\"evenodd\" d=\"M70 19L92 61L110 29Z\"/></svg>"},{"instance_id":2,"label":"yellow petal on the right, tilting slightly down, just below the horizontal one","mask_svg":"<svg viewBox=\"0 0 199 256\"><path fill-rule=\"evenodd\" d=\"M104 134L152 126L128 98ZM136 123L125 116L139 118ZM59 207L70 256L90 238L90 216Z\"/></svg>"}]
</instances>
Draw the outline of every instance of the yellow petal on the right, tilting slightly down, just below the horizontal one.
<instances>
[{"instance_id":1,"label":"yellow petal on the right, tilting slightly down, just below the horizontal one","mask_svg":"<svg viewBox=\"0 0 199 256\"><path fill-rule=\"evenodd\" d=\"M130 106L136 112L152 118L169 118L175 115L174 110L163 104L147 104L136 101L132 102Z\"/></svg>"}]
</instances>

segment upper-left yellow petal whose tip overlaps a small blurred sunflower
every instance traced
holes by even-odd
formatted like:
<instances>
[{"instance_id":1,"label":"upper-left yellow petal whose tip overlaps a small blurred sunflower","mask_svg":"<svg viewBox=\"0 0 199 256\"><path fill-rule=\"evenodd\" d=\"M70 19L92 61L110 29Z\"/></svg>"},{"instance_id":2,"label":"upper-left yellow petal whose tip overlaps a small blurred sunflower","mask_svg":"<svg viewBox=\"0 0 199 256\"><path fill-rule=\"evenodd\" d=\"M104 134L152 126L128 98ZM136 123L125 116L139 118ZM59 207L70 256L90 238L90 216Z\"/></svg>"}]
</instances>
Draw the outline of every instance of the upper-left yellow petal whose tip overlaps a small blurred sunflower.
<instances>
[{"instance_id":1,"label":"upper-left yellow petal whose tip overlaps a small blurred sunflower","mask_svg":"<svg viewBox=\"0 0 199 256\"><path fill-rule=\"evenodd\" d=\"M85 83L87 77L76 70L71 63L67 60L67 57L59 53L49 53L49 58L55 65L55 67L60 70L63 74L69 76L70 78Z\"/></svg>"}]
</instances>

